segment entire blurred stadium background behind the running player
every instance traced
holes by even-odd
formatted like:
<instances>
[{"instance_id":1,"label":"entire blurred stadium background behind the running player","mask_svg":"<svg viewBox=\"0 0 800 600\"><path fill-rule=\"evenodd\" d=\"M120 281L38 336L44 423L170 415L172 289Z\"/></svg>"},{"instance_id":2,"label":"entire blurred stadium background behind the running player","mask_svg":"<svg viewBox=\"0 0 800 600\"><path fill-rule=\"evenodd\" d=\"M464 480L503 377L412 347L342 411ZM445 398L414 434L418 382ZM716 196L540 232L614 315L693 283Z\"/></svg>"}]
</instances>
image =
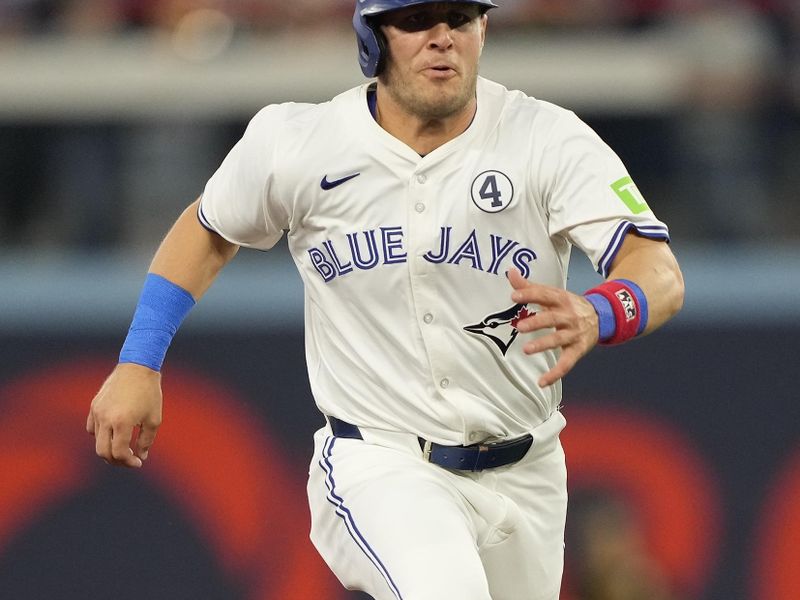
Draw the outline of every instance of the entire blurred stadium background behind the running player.
<instances>
[{"instance_id":1,"label":"entire blurred stadium background behind the running player","mask_svg":"<svg viewBox=\"0 0 800 600\"><path fill-rule=\"evenodd\" d=\"M482 73L609 142L687 283L661 332L565 383L563 598L794 600L800 3L498 4ZM359 597L307 540L322 418L283 244L187 319L146 469L83 432L158 241L249 118L362 81L352 9L0 0L0 597Z\"/></svg>"}]
</instances>

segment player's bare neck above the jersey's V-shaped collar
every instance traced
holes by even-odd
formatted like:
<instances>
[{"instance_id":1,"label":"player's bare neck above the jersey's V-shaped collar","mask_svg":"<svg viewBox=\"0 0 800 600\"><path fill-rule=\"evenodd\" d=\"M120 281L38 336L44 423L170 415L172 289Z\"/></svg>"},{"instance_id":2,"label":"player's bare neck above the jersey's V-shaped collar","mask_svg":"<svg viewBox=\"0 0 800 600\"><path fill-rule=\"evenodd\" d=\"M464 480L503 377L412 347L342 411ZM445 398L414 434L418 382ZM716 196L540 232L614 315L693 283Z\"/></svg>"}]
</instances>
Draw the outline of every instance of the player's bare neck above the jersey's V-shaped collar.
<instances>
[{"instance_id":1,"label":"player's bare neck above the jersey's V-shaped collar","mask_svg":"<svg viewBox=\"0 0 800 600\"><path fill-rule=\"evenodd\" d=\"M378 87L375 120L389 134L425 156L464 133L472 123L477 100L470 101L457 114L444 119L426 119L403 109Z\"/></svg>"}]
</instances>

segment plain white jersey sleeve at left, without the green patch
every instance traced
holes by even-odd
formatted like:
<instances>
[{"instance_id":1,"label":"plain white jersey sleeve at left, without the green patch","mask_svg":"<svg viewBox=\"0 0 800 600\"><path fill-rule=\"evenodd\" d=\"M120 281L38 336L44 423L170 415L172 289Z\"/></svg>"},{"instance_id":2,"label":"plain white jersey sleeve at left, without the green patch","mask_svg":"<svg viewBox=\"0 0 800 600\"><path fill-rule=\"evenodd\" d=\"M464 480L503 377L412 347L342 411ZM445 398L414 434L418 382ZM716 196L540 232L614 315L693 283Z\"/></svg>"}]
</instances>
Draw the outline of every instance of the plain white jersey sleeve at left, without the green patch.
<instances>
[{"instance_id":1,"label":"plain white jersey sleeve at left, without the green patch","mask_svg":"<svg viewBox=\"0 0 800 600\"><path fill-rule=\"evenodd\" d=\"M262 109L206 183L198 218L234 244L274 246L288 229L288 211L274 189L280 106Z\"/></svg>"}]
</instances>

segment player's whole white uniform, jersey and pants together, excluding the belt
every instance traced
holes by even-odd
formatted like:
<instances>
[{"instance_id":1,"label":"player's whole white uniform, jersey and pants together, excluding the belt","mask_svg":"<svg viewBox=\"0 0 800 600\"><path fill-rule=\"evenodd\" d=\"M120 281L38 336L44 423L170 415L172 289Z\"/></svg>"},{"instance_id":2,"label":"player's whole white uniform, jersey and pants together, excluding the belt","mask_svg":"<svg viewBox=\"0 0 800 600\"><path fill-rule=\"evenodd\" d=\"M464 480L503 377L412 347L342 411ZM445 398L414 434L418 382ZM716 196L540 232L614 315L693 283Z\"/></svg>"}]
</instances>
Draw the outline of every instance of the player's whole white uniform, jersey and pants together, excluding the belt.
<instances>
[{"instance_id":1,"label":"player's whole white uniform, jersey and pants together, excluding the belt","mask_svg":"<svg viewBox=\"0 0 800 600\"><path fill-rule=\"evenodd\" d=\"M312 539L376 598L555 600L566 473L561 385L537 380L504 274L564 287L572 245L603 275L627 231L668 239L614 152L574 114L478 80L459 137L425 157L368 109L368 85L251 121L206 185L201 222L271 248L288 232L305 286L320 411L364 440L315 438ZM533 433L520 462L481 473L424 462L448 445Z\"/></svg>"}]
</instances>

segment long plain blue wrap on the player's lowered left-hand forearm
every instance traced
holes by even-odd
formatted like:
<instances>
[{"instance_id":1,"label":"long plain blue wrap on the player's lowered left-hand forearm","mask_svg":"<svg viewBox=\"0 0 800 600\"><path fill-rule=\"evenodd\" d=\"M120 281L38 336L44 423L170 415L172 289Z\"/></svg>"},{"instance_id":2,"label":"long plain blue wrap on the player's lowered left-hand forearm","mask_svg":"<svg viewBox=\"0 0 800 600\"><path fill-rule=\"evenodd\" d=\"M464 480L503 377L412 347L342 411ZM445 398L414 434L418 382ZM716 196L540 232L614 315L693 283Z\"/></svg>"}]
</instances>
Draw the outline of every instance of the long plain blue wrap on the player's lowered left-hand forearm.
<instances>
[{"instance_id":1,"label":"long plain blue wrap on the player's lowered left-hand forearm","mask_svg":"<svg viewBox=\"0 0 800 600\"><path fill-rule=\"evenodd\" d=\"M119 362L160 371L173 336L194 305L194 298L185 289L148 273Z\"/></svg>"}]
</instances>

